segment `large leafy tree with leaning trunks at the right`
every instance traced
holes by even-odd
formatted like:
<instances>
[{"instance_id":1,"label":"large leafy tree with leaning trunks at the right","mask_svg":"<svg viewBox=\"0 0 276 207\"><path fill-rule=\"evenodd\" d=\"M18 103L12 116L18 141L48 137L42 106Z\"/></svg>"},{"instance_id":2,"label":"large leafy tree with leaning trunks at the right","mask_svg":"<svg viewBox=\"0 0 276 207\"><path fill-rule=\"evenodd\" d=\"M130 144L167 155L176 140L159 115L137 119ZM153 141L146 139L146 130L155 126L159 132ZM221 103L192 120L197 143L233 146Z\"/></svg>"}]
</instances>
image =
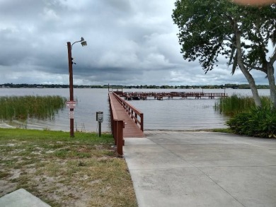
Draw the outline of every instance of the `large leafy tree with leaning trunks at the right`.
<instances>
[{"instance_id":1,"label":"large leafy tree with leaning trunks at the right","mask_svg":"<svg viewBox=\"0 0 276 207\"><path fill-rule=\"evenodd\" d=\"M198 59L207 73L218 57L226 57L232 74L237 68L243 72L257 106L261 106L260 96L251 71L263 71L276 107L276 4L253 7L227 0L177 0L175 5L172 18L180 31L183 58Z\"/></svg>"}]
</instances>

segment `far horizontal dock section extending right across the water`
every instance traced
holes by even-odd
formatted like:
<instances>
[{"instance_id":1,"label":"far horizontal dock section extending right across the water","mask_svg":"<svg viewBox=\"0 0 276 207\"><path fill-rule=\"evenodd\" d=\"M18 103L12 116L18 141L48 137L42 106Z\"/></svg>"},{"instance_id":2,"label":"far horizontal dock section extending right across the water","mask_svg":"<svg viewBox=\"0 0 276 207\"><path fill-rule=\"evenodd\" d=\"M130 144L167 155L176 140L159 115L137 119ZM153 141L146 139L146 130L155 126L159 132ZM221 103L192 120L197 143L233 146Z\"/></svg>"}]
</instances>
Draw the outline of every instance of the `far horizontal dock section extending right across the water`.
<instances>
[{"instance_id":1,"label":"far horizontal dock section extending right across the water","mask_svg":"<svg viewBox=\"0 0 276 207\"><path fill-rule=\"evenodd\" d=\"M117 92L116 92L117 93ZM125 100L146 100L148 98L154 98L156 100L163 100L163 98L173 99L188 99L194 97L195 99L215 97L227 97L226 93L203 93L203 92L120 92L120 97L124 97Z\"/></svg>"}]
</instances>

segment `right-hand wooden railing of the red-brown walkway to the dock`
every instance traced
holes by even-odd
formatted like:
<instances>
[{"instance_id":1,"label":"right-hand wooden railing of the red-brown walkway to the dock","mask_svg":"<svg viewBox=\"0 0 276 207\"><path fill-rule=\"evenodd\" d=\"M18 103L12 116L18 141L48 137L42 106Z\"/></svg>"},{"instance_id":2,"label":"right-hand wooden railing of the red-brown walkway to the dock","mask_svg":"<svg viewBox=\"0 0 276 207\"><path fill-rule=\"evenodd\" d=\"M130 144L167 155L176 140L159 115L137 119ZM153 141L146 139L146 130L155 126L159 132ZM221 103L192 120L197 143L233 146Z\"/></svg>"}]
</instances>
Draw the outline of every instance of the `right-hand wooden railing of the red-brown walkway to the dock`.
<instances>
[{"instance_id":1,"label":"right-hand wooden railing of the red-brown walkway to the dock","mask_svg":"<svg viewBox=\"0 0 276 207\"><path fill-rule=\"evenodd\" d=\"M126 102L125 100L123 100L122 97L120 97L116 93L113 92L113 94L115 95L115 97L118 100L118 102L120 102L120 104L122 105L122 107L124 107L124 109L126 110L127 114L130 115L130 117L132 118L133 122L135 122L135 124L137 124L137 126L139 126L139 128L142 131L144 131L144 114L142 112L140 112L139 110L137 110L134 106L130 105L128 102Z\"/></svg>"}]
</instances>

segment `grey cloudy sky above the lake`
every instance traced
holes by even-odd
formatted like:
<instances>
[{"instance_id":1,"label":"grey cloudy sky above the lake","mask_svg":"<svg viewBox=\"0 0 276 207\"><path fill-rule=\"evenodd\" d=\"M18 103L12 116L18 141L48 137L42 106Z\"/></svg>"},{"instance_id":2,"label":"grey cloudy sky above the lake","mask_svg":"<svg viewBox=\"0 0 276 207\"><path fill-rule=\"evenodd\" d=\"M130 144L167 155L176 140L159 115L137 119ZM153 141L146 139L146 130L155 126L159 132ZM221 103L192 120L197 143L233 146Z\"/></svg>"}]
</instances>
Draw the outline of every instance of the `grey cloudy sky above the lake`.
<instances>
[{"instance_id":1,"label":"grey cloudy sky above the lake","mask_svg":"<svg viewBox=\"0 0 276 207\"><path fill-rule=\"evenodd\" d=\"M174 0L0 0L0 84L69 84L67 42L76 85L247 83L222 59L205 74L180 54ZM255 73L257 84L268 84Z\"/></svg>"}]
</instances>

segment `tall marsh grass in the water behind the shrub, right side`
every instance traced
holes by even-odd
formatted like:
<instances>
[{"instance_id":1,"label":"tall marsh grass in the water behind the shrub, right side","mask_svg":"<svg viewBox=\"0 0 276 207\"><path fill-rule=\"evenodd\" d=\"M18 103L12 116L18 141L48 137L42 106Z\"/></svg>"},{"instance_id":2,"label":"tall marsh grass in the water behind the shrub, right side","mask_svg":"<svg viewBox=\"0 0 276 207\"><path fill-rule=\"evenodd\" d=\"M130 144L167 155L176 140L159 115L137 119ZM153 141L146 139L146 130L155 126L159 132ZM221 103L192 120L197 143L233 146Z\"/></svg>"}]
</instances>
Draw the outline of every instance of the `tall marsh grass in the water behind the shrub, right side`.
<instances>
[{"instance_id":1,"label":"tall marsh grass in the water behind the shrub, right side","mask_svg":"<svg viewBox=\"0 0 276 207\"><path fill-rule=\"evenodd\" d=\"M270 107L270 97L261 97L261 102L263 107ZM255 107L255 102L253 97L231 95L230 97L224 97L219 99L215 103L214 109L219 111L220 114L224 114L229 117L233 117L235 114L241 112L249 112Z\"/></svg>"}]
</instances>

